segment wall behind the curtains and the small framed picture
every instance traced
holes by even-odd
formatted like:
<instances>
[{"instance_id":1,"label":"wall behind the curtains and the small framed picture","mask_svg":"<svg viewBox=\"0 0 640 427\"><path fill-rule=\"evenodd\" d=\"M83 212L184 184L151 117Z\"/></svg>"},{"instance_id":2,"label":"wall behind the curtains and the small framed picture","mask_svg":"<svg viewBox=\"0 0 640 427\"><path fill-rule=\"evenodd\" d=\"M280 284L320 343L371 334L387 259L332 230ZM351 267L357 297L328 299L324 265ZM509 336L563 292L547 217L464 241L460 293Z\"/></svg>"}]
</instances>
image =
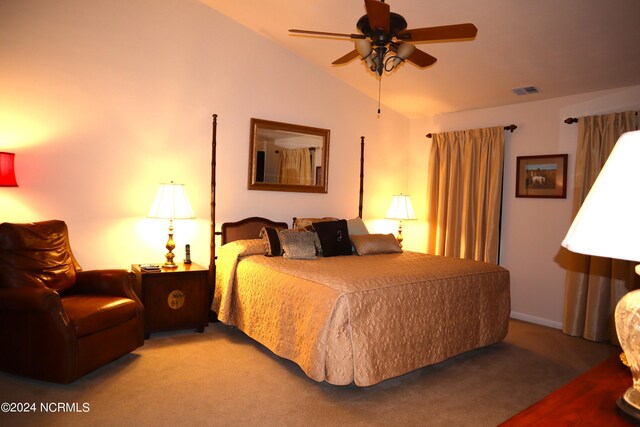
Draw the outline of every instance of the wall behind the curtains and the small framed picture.
<instances>
[{"instance_id":1,"label":"wall behind the curtains and the small framed picture","mask_svg":"<svg viewBox=\"0 0 640 427\"><path fill-rule=\"evenodd\" d=\"M535 99L535 98L532 98ZM513 317L561 328L565 270L560 243L571 223L573 174L580 117L640 108L640 86L534 101L498 108L446 114L411 124L410 173L417 214L425 217L426 165L429 139L425 134L448 130L518 126L507 132L500 264L511 272ZM516 157L569 154L566 199L515 197ZM424 233L425 224L410 224ZM426 249L426 245L423 246Z\"/></svg>"}]
</instances>

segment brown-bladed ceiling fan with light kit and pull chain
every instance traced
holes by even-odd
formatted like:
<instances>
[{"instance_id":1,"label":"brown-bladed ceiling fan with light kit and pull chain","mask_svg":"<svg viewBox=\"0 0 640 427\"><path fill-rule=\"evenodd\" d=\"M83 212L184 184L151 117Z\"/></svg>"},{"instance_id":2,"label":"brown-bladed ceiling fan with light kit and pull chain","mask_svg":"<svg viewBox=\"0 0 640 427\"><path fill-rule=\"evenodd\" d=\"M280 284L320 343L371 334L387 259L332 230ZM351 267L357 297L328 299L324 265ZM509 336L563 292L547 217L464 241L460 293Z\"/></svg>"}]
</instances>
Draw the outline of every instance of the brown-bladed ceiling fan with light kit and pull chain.
<instances>
[{"instance_id":1,"label":"brown-bladed ceiling fan with light kit and pull chain","mask_svg":"<svg viewBox=\"0 0 640 427\"><path fill-rule=\"evenodd\" d=\"M415 28L407 30L407 21L384 0L364 0L367 14L362 16L356 27L361 34L328 33L323 31L289 30L292 33L315 36L346 37L355 40L356 48L332 62L346 64L358 55L378 76L391 72L405 60L424 68L433 65L437 59L417 49L416 42L451 42L473 40L478 29L473 24L443 25L440 27Z\"/></svg>"}]
</instances>

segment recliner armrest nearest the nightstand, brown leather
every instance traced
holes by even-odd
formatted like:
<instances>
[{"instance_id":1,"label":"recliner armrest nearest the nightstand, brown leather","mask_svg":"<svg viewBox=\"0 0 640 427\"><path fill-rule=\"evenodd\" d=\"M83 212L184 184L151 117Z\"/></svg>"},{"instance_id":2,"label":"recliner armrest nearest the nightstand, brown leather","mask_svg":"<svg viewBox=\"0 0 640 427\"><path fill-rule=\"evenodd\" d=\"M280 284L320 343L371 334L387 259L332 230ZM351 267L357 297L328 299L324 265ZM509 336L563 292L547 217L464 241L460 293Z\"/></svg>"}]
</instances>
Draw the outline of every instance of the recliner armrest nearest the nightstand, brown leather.
<instances>
[{"instance_id":1,"label":"recliner armrest nearest the nightstand, brown leather","mask_svg":"<svg viewBox=\"0 0 640 427\"><path fill-rule=\"evenodd\" d=\"M89 270L76 272L72 293L113 295L138 300L133 291L133 276L127 270Z\"/></svg>"}]
</instances>

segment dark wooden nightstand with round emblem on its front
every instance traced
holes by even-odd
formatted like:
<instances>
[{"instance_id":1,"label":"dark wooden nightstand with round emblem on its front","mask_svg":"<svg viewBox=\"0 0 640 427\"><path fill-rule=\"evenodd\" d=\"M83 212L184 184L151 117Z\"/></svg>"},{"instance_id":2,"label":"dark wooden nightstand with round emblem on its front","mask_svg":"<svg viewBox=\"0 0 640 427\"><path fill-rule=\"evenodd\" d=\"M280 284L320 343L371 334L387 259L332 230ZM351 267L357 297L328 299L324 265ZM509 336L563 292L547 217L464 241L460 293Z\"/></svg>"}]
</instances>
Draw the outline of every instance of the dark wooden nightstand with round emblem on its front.
<instances>
[{"instance_id":1,"label":"dark wooden nightstand with round emblem on its front","mask_svg":"<svg viewBox=\"0 0 640 427\"><path fill-rule=\"evenodd\" d=\"M209 323L208 269L198 264L146 271L131 265L135 291L144 305L144 335L173 329L204 331Z\"/></svg>"}]
</instances>

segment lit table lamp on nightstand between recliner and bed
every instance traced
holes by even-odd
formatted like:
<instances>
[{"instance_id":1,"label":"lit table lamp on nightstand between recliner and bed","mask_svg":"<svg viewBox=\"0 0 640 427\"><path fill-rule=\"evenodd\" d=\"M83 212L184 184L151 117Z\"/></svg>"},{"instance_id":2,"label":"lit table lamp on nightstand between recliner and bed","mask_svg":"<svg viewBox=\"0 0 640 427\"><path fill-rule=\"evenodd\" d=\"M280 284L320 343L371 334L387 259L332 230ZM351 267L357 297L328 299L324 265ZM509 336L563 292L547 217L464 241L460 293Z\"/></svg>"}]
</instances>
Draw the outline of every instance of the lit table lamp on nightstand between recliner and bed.
<instances>
[{"instance_id":1,"label":"lit table lamp on nightstand between recliner and bed","mask_svg":"<svg viewBox=\"0 0 640 427\"><path fill-rule=\"evenodd\" d=\"M169 240L166 245L168 252L165 255L167 261L163 267L176 268L178 265L173 262L175 256L173 250L176 247L176 243L173 241L173 220L195 218L184 184L174 184L173 181L169 184L160 184L147 216L169 220Z\"/></svg>"}]
</instances>

